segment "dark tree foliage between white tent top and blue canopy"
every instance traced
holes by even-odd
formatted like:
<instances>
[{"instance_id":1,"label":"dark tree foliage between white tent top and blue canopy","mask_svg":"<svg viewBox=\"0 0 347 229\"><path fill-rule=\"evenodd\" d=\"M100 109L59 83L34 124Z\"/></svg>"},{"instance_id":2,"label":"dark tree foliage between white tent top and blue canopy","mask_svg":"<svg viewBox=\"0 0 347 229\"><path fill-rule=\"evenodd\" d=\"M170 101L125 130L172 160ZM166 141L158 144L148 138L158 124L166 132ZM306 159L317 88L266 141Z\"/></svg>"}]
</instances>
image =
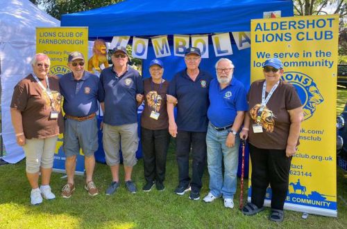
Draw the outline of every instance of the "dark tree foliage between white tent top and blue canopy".
<instances>
[{"instance_id":1,"label":"dark tree foliage between white tent top and blue canopy","mask_svg":"<svg viewBox=\"0 0 347 229\"><path fill-rule=\"evenodd\" d=\"M92 10L109 6L123 0L30 0L36 6L42 6L49 15L60 20L61 15Z\"/></svg>"}]
</instances>

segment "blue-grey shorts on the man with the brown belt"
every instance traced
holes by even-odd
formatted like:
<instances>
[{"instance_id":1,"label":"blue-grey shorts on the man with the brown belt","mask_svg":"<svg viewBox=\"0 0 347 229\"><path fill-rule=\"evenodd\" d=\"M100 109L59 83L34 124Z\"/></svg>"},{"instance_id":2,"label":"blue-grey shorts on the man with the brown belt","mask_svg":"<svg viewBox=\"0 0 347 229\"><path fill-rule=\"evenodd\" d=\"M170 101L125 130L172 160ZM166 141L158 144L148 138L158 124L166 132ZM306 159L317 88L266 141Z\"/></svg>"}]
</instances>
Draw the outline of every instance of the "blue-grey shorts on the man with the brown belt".
<instances>
[{"instance_id":1,"label":"blue-grey shorts on the man with the brown belt","mask_svg":"<svg viewBox=\"0 0 347 229\"><path fill-rule=\"evenodd\" d=\"M65 119L63 149L65 156L75 156L82 149L85 156L92 156L99 147L98 125L96 117L91 120L78 121Z\"/></svg>"}]
</instances>

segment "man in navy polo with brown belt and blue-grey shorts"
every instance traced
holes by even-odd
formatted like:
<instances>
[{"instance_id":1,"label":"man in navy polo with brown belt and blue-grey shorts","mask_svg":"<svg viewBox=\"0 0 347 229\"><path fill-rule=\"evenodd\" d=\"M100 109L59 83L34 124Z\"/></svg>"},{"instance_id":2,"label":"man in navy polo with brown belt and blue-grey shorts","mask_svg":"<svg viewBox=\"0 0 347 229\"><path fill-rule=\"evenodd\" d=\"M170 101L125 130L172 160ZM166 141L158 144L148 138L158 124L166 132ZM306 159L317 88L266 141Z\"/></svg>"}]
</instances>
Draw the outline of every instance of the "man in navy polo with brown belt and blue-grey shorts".
<instances>
[{"instance_id":1,"label":"man in navy polo with brown belt and blue-grey shorts","mask_svg":"<svg viewBox=\"0 0 347 229\"><path fill-rule=\"evenodd\" d=\"M92 181L95 167L94 152L98 149L98 127L95 112L98 100L103 101L103 89L99 77L84 70L82 53L72 52L67 58L71 73L60 79L60 93L64 96L65 111L64 152L67 184L62 197L69 198L75 190L74 174L76 156L82 149L85 155L85 189L91 196L99 194Z\"/></svg>"}]
</instances>

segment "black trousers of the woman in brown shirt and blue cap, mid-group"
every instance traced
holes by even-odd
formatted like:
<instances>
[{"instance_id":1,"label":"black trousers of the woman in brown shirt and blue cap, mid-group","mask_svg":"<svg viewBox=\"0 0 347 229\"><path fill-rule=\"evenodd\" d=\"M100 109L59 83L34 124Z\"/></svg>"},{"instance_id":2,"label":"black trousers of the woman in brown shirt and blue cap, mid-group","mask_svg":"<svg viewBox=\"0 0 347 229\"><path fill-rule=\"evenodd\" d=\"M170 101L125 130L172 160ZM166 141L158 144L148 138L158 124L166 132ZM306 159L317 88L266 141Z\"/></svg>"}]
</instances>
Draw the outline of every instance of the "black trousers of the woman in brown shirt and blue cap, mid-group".
<instances>
[{"instance_id":1,"label":"black trousers of the woman in brown shirt and blue cap, mid-group","mask_svg":"<svg viewBox=\"0 0 347 229\"><path fill-rule=\"evenodd\" d=\"M168 129L151 130L141 128L144 178L146 181L164 181L169 139Z\"/></svg>"}]
</instances>

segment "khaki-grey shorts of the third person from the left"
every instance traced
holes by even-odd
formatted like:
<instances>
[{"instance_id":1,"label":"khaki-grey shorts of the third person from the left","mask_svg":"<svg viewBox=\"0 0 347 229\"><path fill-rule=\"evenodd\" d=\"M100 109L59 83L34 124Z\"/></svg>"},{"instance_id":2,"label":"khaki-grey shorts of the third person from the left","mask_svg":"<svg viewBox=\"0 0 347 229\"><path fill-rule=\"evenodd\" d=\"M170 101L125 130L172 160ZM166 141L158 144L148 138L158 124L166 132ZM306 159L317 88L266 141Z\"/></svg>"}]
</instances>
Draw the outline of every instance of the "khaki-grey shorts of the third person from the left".
<instances>
[{"instance_id":1,"label":"khaki-grey shorts of the third person from the left","mask_svg":"<svg viewBox=\"0 0 347 229\"><path fill-rule=\"evenodd\" d=\"M119 165L120 146L124 165L136 165L135 154L138 145L137 122L120 126L103 124L103 149L105 150L105 158L108 165Z\"/></svg>"}]
</instances>

